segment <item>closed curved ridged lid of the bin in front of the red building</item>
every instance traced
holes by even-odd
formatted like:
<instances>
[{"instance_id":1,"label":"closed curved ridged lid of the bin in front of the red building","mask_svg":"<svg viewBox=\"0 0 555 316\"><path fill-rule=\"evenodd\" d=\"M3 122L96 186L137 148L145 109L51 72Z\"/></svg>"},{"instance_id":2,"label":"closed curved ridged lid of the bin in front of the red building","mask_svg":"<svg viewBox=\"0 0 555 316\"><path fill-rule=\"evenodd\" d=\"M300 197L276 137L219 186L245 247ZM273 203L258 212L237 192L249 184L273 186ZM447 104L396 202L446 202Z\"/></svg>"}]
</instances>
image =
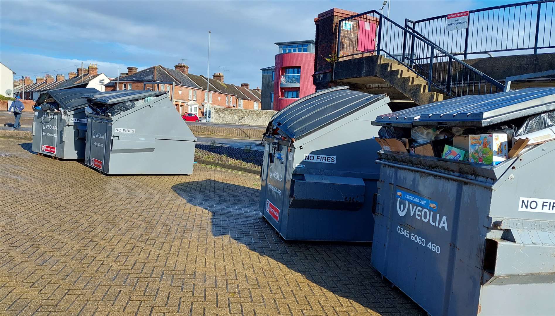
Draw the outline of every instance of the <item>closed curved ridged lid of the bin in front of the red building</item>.
<instances>
[{"instance_id":1,"label":"closed curved ridged lid of the bin in front of the red building","mask_svg":"<svg viewBox=\"0 0 555 316\"><path fill-rule=\"evenodd\" d=\"M279 128L280 134L299 140L384 98L385 94L362 93L348 86L321 90L276 113L267 131Z\"/></svg>"}]
</instances>

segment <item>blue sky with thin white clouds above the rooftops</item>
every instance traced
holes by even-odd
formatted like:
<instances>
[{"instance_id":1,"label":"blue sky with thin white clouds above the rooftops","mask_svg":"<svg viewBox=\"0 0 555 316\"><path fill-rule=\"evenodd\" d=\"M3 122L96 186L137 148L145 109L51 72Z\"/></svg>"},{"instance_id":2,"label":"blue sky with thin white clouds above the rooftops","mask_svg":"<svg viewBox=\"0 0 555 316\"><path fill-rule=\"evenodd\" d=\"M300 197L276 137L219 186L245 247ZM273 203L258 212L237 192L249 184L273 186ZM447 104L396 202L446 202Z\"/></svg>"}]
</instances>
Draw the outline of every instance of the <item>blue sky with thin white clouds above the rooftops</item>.
<instances>
[{"instance_id":1,"label":"blue sky with thin white clouds above the rooftops","mask_svg":"<svg viewBox=\"0 0 555 316\"><path fill-rule=\"evenodd\" d=\"M390 18L412 20L508 0L391 0ZM314 39L314 18L331 8L379 9L367 1L0 1L0 62L22 75L75 71L83 62L115 77L127 67L189 65L226 83L261 83L260 68L274 65L274 43ZM386 6L387 8L387 6ZM384 10L386 11L386 9ZM118 67L120 68L118 72Z\"/></svg>"}]
</instances>

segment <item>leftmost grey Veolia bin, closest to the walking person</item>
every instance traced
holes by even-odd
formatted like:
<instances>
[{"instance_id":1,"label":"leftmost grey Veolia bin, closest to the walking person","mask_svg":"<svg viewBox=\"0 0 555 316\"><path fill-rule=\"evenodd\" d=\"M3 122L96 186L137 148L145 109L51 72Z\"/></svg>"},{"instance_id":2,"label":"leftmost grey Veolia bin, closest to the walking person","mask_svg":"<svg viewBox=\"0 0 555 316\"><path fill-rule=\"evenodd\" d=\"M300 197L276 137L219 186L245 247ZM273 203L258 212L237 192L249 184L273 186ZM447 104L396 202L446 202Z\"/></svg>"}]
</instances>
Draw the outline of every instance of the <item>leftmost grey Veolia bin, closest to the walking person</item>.
<instances>
[{"instance_id":1,"label":"leftmost grey Veolia bin, closest to the walking person","mask_svg":"<svg viewBox=\"0 0 555 316\"><path fill-rule=\"evenodd\" d=\"M32 126L33 151L61 159L85 157L87 100L81 96L98 92L94 88L53 90L41 93L36 106L48 99L59 105L59 111L35 110Z\"/></svg>"}]
</instances>

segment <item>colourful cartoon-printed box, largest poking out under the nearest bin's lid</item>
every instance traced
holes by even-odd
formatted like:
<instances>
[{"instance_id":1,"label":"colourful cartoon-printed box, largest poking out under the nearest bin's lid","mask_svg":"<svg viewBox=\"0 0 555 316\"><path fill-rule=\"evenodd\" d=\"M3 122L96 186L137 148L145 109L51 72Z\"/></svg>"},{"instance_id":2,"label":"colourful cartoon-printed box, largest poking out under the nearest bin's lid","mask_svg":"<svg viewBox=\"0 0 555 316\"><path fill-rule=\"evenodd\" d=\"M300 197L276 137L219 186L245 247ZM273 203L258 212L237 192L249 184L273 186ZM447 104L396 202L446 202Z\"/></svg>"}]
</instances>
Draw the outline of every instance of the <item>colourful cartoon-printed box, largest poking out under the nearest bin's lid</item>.
<instances>
[{"instance_id":1,"label":"colourful cartoon-printed box, largest poking out under the nearest bin's lid","mask_svg":"<svg viewBox=\"0 0 555 316\"><path fill-rule=\"evenodd\" d=\"M468 137L468 161L495 166L507 160L507 134L480 134Z\"/></svg>"}]
</instances>

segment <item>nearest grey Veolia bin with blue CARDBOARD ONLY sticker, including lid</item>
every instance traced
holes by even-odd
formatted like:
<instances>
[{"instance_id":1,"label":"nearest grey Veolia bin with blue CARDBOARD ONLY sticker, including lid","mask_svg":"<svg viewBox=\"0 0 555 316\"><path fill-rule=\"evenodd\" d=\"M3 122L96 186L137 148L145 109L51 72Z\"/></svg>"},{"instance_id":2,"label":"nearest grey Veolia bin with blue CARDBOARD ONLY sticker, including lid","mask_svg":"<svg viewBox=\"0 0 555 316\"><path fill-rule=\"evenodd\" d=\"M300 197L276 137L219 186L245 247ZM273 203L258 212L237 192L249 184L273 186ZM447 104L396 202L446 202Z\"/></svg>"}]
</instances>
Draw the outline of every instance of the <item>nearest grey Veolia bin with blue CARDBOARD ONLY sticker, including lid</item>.
<instances>
[{"instance_id":1,"label":"nearest grey Veolia bin with blue CARDBOARD ONLY sticker, including lid","mask_svg":"<svg viewBox=\"0 0 555 316\"><path fill-rule=\"evenodd\" d=\"M555 109L555 89L465 96L372 124L481 128ZM372 265L431 315L555 313L555 141L491 166L380 151Z\"/></svg>"}]
</instances>

